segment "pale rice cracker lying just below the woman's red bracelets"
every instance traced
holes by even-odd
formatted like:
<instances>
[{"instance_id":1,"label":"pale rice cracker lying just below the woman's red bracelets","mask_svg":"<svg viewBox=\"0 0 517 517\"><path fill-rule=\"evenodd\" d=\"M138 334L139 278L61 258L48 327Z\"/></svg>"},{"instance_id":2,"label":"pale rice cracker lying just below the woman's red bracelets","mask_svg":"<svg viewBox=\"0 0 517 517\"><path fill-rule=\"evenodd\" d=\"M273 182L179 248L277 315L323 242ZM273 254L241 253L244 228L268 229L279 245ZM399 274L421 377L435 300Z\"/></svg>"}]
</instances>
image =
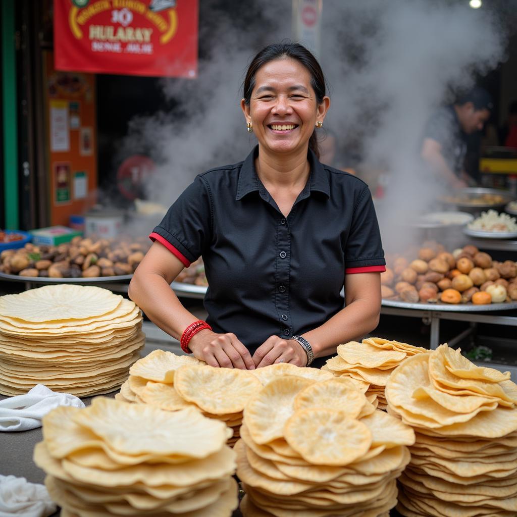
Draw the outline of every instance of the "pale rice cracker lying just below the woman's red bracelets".
<instances>
[{"instance_id":1,"label":"pale rice cracker lying just below the woman's red bracelets","mask_svg":"<svg viewBox=\"0 0 517 517\"><path fill-rule=\"evenodd\" d=\"M148 381L170 384L174 382L175 370L186 364L206 363L192 356L178 356L172 352L154 350L133 364L129 373L147 379Z\"/></svg>"}]
</instances>

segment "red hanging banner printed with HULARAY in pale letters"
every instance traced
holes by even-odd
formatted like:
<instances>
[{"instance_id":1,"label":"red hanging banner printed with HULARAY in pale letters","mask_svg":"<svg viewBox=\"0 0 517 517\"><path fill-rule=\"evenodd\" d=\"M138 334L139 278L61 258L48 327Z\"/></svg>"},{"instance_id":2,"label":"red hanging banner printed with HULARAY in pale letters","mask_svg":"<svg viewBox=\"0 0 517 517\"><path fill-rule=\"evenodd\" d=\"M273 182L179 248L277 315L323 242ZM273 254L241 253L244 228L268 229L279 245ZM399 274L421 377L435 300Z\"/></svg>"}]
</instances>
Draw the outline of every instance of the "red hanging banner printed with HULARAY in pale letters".
<instances>
[{"instance_id":1,"label":"red hanging banner printed with HULARAY in pale letters","mask_svg":"<svg viewBox=\"0 0 517 517\"><path fill-rule=\"evenodd\" d=\"M56 70L195 78L197 0L54 0Z\"/></svg>"}]
</instances>

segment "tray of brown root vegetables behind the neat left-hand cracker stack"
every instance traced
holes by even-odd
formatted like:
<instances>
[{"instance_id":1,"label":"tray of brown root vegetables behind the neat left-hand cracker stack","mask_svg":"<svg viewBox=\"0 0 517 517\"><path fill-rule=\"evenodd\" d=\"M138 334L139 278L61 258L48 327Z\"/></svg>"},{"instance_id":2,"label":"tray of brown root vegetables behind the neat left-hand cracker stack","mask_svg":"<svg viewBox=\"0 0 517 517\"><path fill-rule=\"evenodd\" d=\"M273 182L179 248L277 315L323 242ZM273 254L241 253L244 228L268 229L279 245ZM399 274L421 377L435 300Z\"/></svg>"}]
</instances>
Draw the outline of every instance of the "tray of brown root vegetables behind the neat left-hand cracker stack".
<instances>
[{"instance_id":1,"label":"tray of brown root vegetables behind the neat left-hand cracker stack","mask_svg":"<svg viewBox=\"0 0 517 517\"><path fill-rule=\"evenodd\" d=\"M149 247L146 237L74 237L57 246L27 243L0 253L0 278L39 283L129 280Z\"/></svg>"}]
</instances>

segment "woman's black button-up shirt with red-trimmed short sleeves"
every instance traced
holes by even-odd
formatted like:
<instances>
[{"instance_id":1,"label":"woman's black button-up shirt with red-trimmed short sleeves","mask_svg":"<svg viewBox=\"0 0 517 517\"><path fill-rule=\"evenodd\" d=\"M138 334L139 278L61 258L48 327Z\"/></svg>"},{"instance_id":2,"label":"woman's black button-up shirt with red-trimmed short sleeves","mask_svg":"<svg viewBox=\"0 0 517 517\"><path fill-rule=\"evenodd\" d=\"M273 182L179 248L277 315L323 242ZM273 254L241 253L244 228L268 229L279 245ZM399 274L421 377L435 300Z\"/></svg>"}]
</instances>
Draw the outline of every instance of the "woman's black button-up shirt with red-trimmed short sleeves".
<instances>
[{"instance_id":1,"label":"woman's black button-up shirt with red-trimmed short sleeves","mask_svg":"<svg viewBox=\"0 0 517 517\"><path fill-rule=\"evenodd\" d=\"M363 181L309 151L309 180L284 217L258 179L257 153L197 176L150 234L186 266L203 256L207 323L251 353L340 311L345 273L385 269Z\"/></svg>"}]
</instances>

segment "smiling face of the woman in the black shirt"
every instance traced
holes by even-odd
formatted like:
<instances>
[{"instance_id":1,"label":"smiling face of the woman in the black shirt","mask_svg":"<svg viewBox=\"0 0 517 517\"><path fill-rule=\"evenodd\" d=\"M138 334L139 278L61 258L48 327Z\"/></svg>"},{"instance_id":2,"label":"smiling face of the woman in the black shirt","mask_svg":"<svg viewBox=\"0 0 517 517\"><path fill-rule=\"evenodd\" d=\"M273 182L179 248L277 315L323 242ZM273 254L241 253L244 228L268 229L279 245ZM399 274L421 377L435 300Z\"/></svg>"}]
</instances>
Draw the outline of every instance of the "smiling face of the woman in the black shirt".
<instances>
[{"instance_id":1,"label":"smiling face of the woman in the black shirt","mask_svg":"<svg viewBox=\"0 0 517 517\"><path fill-rule=\"evenodd\" d=\"M309 71L294 59L276 59L258 69L250 104L241 101L258 143L272 153L306 152L317 120L330 104L317 104Z\"/></svg>"}]
</instances>

